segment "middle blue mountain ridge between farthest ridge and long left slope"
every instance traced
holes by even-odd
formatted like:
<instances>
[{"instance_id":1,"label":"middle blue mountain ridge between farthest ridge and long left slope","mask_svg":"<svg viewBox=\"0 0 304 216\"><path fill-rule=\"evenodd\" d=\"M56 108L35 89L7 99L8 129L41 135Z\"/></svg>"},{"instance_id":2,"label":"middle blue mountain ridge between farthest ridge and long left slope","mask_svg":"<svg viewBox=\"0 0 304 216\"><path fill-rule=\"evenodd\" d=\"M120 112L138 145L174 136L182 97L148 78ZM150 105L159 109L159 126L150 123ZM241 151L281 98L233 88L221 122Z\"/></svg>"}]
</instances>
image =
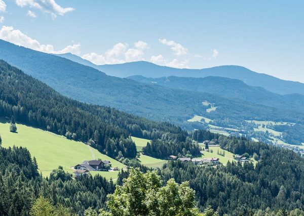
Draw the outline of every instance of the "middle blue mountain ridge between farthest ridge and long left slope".
<instances>
[{"instance_id":1,"label":"middle blue mountain ridge between farthest ridge and long left slope","mask_svg":"<svg viewBox=\"0 0 304 216\"><path fill-rule=\"evenodd\" d=\"M171 89L205 92L226 98L246 100L265 106L304 112L303 95L292 94L282 96L264 90L261 87L251 87L238 79L215 76L204 78L176 76L146 78L143 76L130 76L128 78L144 83L159 84Z\"/></svg>"}]
</instances>

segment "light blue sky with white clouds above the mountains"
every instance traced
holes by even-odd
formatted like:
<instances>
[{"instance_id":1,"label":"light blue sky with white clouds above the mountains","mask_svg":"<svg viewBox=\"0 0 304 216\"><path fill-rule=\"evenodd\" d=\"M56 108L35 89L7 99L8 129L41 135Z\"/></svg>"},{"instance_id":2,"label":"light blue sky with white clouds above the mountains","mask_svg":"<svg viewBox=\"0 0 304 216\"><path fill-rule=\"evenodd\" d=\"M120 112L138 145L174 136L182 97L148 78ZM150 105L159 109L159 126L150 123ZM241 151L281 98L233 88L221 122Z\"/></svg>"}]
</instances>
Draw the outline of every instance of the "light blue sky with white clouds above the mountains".
<instances>
[{"instance_id":1,"label":"light blue sky with white clouds above the mountains","mask_svg":"<svg viewBox=\"0 0 304 216\"><path fill-rule=\"evenodd\" d=\"M96 64L242 65L304 82L303 11L303 1L0 0L0 38Z\"/></svg>"}]
</instances>

